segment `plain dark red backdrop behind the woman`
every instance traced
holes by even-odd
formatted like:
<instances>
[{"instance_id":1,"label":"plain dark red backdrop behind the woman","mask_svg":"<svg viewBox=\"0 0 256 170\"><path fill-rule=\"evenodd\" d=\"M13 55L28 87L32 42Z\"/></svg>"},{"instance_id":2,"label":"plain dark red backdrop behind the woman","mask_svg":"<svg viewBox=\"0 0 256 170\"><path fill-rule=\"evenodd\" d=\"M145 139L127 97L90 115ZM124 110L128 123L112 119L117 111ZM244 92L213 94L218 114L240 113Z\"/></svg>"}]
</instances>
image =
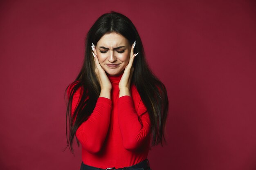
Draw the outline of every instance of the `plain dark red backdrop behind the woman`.
<instances>
[{"instance_id":1,"label":"plain dark red backdrop behind the woman","mask_svg":"<svg viewBox=\"0 0 256 170\"><path fill-rule=\"evenodd\" d=\"M64 90L85 34L103 13L137 27L168 91L167 145L153 170L256 169L256 2L249 0L0 2L0 169L79 170L63 149Z\"/></svg>"}]
</instances>

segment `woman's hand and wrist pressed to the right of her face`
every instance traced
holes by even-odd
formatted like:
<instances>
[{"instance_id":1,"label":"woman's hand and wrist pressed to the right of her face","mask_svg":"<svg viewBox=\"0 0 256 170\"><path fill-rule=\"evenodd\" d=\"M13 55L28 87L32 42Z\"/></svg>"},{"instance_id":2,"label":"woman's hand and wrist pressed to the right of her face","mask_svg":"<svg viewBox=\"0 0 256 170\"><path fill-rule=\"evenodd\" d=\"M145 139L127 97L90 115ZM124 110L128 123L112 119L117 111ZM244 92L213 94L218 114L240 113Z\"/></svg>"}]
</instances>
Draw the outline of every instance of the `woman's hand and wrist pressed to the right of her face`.
<instances>
[{"instance_id":1,"label":"woman's hand and wrist pressed to the right of her face","mask_svg":"<svg viewBox=\"0 0 256 170\"><path fill-rule=\"evenodd\" d=\"M134 71L132 63L133 63L135 56L138 54L138 53L137 54L133 53L134 46L135 46L135 42L132 44L132 47L131 47L129 63L125 67L124 74L122 75L119 85L118 85L119 90L120 90L119 97L124 96L124 95L130 96L130 83L131 83L131 79L132 79L132 73Z\"/></svg>"}]
</instances>

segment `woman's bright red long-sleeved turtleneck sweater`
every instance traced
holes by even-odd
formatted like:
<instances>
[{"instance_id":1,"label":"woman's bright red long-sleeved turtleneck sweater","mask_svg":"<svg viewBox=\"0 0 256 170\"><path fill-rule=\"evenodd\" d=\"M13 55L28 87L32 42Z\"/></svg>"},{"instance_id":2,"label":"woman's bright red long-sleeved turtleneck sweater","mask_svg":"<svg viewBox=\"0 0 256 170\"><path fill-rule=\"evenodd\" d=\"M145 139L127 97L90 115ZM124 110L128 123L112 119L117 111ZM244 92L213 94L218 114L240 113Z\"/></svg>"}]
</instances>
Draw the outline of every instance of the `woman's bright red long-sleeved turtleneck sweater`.
<instances>
[{"instance_id":1,"label":"woman's bright red long-sleeved turtleneck sweater","mask_svg":"<svg viewBox=\"0 0 256 170\"><path fill-rule=\"evenodd\" d=\"M119 98L121 77L108 75L112 84L111 99L99 97L88 120L76 131L82 146L82 161L89 166L122 168L135 165L148 156L149 114L134 85L130 88L132 97ZM76 91L72 113L79 95Z\"/></svg>"}]
</instances>

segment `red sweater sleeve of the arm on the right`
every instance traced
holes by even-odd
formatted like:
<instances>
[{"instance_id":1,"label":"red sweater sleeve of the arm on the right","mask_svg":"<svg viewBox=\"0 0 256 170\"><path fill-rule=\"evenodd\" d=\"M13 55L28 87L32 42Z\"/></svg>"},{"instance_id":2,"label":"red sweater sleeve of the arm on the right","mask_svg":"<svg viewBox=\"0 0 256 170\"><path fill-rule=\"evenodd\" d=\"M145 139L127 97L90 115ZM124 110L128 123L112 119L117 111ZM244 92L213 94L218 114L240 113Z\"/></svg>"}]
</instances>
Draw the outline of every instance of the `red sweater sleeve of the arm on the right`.
<instances>
[{"instance_id":1,"label":"red sweater sleeve of the arm on the right","mask_svg":"<svg viewBox=\"0 0 256 170\"><path fill-rule=\"evenodd\" d=\"M150 135L150 118L142 100L136 112L131 96L119 97L118 121L126 150L137 149Z\"/></svg>"}]
</instances>

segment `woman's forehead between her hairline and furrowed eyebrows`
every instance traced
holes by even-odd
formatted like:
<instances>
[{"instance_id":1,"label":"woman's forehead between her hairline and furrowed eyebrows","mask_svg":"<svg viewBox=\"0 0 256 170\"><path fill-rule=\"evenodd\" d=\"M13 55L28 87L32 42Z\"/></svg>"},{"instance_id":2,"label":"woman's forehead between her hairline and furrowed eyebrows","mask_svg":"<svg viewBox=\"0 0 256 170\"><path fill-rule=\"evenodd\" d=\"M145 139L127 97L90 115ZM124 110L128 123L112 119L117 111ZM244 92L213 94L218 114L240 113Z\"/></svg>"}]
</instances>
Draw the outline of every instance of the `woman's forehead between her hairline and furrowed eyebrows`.
<instances>
[{"instance_id":1,"label":"woman's forehead between her hairline and furrowed eyebrows","mask_svg":"<svg viewBox=\"0 0 256 170\"><path fill-rule=\"evenodd\" d=\"M129 42L128 40L121 34L118 33L108 33L101 37L101 39L98 41L98 46L128 46Z\"/></svg>"}]
</instances>

